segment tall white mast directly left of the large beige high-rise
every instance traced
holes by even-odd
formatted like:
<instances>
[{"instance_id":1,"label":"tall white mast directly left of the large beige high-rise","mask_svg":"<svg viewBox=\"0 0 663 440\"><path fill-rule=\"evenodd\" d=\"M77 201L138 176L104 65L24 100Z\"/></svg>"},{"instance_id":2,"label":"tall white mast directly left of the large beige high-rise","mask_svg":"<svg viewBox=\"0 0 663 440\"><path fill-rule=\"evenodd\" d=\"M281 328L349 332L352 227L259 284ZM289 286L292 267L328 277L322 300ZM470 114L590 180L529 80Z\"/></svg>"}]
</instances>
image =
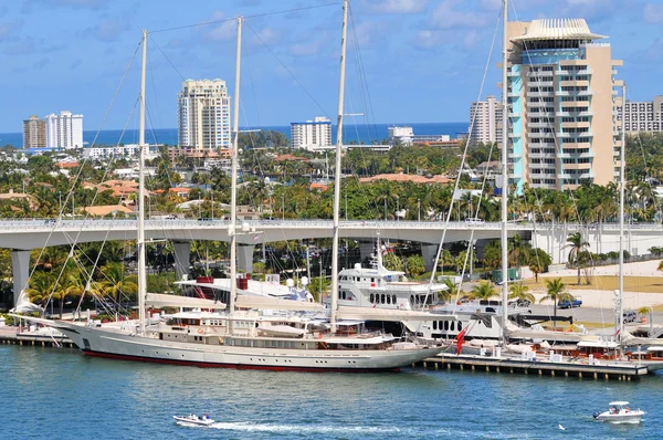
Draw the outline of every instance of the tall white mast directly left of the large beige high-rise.
<instances>
[{"instance_id":1,"label":"tall white mast directly left of the large beige high-rise","mask_svg":"<svg viewBox=\"0 0 663 440\"><path fill-rule=\"evenodd\" d=\"M504 29L502 41L502 337L507 343L506 324L508 323L508 0L504 0Z\"/></svg>"}]
</instances>

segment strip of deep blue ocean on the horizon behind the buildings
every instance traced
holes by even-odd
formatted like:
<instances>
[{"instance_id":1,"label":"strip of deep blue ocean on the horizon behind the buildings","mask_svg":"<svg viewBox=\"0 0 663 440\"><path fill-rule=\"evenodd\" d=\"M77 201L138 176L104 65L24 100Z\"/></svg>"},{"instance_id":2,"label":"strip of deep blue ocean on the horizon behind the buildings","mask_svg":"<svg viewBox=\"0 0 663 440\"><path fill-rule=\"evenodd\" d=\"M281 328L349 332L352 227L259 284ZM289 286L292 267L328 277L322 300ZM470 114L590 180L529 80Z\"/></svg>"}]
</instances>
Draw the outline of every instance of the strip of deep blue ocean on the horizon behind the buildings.
<instances>
[{"instance_id":1,"label":"strip of deep blue ocean on the horizon behind the buildings","mask_svg":"<svg viewBox=\"0 0 663 440\"><path fill-rule=\"evenodd\" d=\"M388 136L388 127L394 124L370 124L355 125L346 124L344 126L344 142L352 140L359 144L370 144L373 140L386 139ZM467 130L467 123L414 123L414 124L398 124L411 126L415 135L450 135L452 138L457 133ZM255 129L256 127L246 127ZM276 130L283 133L290 138L290 126L273 126L261 127L264 130ZM242 128L244 129L244 128ZM146 132L146 140L150 144L168 144L177 145L177 128L157 128ZM336 139L336 127L332 127L332 137ZM123 133L119 129L108 129L98 133L96 130L84 130L83 142L87 145L116 145L116 144L137 144L138 130L129 129ZM21 133L0 133L0 146L11 145L21 148L23 146L23 137Z\"/></svg>"}]
</instances>

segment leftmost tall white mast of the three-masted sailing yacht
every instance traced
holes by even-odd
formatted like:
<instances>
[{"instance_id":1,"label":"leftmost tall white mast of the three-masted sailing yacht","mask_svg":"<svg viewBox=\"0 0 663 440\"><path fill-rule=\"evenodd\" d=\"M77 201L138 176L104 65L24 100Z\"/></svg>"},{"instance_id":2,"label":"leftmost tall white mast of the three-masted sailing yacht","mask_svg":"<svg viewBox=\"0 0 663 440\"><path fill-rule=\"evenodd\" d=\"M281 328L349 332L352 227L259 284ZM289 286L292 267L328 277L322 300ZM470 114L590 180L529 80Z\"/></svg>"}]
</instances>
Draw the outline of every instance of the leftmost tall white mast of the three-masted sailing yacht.
<instances>
[{"instance_id":1,"label":"leftmost tall white mast of the three-masted sailing yacht","mask_svg":"<svg viewBox=\"0 0 663 440\"><path fill-rule=\"evenodd\" d=\"M145 297L147 295L147 275L145 263L145 72L147 65L147 31L143 31L143 63L140 66L140 113L138 116L138 322L140 334L145 334Z\"/></svg>"}]
</instances>

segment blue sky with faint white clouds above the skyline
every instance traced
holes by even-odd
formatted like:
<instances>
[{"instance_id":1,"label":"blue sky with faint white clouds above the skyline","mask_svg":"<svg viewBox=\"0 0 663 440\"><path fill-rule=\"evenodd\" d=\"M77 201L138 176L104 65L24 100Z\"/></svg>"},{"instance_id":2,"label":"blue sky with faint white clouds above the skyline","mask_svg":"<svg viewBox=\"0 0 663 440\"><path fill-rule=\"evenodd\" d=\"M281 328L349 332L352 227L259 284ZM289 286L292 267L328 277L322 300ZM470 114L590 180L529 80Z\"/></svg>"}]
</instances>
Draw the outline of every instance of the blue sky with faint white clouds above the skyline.
<instances>
[{"instance_id":1,"label":"blue sky with faint white clouds above the skyline","mask_svg":"<svg viewBox=\"0 0 663 440\"><path fill-rule=\"evenodd\" d=\"M499 8L501 0L352 0L345 113L359 115L346 122L467 121L472 101L498 95ZM618 77L629 98L663 94L663 0L512 0L509 14L586 19L624 60ZM238 15L240 125L335 121L339 1L0 0L0 133L63 109L83 114L86 130L137 128L143 29L148 127L176 127L183 80L222 78L234 96Z\"/></svg>"}]
</instances>

